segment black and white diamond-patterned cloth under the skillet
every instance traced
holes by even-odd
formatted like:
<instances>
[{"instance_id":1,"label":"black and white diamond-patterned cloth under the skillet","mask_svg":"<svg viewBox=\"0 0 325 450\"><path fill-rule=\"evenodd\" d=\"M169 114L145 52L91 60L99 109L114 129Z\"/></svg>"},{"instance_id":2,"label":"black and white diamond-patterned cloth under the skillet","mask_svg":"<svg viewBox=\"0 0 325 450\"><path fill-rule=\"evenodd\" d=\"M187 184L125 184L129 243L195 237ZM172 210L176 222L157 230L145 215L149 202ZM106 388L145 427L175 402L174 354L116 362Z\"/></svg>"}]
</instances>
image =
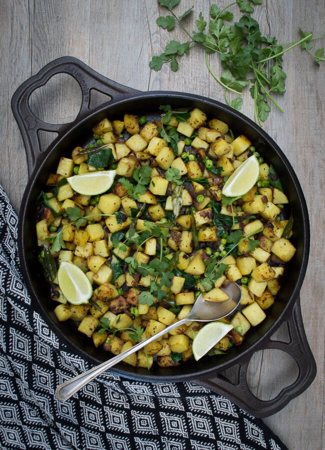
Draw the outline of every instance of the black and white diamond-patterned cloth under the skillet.
<instances>
[{"instance_id":1,"label":"black and white diamond-patterned cloth under the skillet","mask_svg":"<svg viewBox=\"0 0 325 450\"><path fill-rule=\"evenodd\" d=\"M0 186L2 450L285 449L262 420L191 382L146 383L106 372L59 402L55 387L90 368L33 309L17 254L17 215Z\"/></svg>"}]
</instances>

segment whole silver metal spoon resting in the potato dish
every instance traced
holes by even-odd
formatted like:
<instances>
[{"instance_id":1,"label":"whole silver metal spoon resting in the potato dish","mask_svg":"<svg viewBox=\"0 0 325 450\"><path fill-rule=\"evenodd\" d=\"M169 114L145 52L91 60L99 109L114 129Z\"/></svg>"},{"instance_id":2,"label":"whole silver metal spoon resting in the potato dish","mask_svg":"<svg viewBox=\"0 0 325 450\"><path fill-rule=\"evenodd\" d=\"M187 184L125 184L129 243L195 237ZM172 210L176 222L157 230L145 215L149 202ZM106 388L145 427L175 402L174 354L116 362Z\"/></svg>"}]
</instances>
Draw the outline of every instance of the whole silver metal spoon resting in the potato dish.
<instances>
[{"instance_id":1,"label":"whole silver metal spoon resting in the potato dish","mask_svg":"<svg viewBox=\"0 0 325 450\"><path fill-rule=\"evenodd\" d=\"M122 353L108 359L107 361L104 361L101 364L91 368L90 370L60 384L55 390L56 397L60 401L66 400L79 389L81 389L81 387L83 387L93 378L96 378L98 375L100 375L100 373L104 372L109 367L117 364L117 362L126 358L127 356L144 347L153 340L156 340L157 338L163 336L168 331L176 328L182 323L190 320L197 320L198 322L211 322L230 314L230 312L232 312L239 304L241 298L241 290L238 284L234 282L231 282L225 287L222 287L222 290L228 295L229 298L227 300L221 302L207 301L204 300L202 294L200 294L196 298L192 309L186 317L178 320L177 322L171 323L164 329L158 331L156 334L153 334L147 339L133 345L133 347L129 348L128 350L125 350Z\"/></svg>"}]
</instances>

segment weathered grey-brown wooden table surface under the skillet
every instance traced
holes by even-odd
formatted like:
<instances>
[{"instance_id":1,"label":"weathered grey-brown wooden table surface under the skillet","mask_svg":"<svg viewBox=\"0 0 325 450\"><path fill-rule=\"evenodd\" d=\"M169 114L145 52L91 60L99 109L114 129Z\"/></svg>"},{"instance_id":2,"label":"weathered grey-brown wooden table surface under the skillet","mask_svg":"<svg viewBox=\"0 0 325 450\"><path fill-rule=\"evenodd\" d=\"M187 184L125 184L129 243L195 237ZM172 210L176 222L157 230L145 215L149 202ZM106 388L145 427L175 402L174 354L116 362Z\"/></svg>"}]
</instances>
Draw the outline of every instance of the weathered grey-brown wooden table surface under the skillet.
<instances>
[{"instance_id":1,"label":"weathered grey-brown wooden table surface under the skillet","mask_svg":"<svg viewBox=\"0 0 325 450\"><path fill-rule=\"evenodd\" d=\"M181 0L175 11L183 12L193 3L194 13L185 20L189 29L194 29L199 11L208 17L213 1ZM224 0L218 3L227 4ZM167 66L160 72L150 70L149 60L170 39L186 40L183 32L168 34L156 25L156 18L166 15L167 10L155 0L0 0L0 6L0 183L17 211L27 183L27 165L10 99L25 79L52 59L75 56L106 77L143 91L178 90L223 100L222 88L209 76L201 49L185 56L175 73ZM314 35L324 33L323 13L323 0L272 0L257 6L254 17L266 36L275 35L284 43L298 39L298 27ZM324 39L317 45L324 46ZM220 70L215 56L210 57L210 63ZM317 375L305 392L264 421L289 449L318 450L324 448L324 64L317 67L306 52L296 47L284 55L283 70L287 73L287 92L277 99L284 114L272 108L263 128L292 164L309 209L311 250L301 289L301 309ZM30 101L40 118L64 123L77 114L79 88L68 75L56 76L59 87L56 79L55 95L51 84L54 81L50 81L33 93ZM253 118L249 93L244 95L242 112ZM53 135L42 133L39 137L46 147ZM261 398L274 396L294 379L292 367L289 359L278 352L255 354L249 374L252 390Z\"/></svg>"}]
</instances>

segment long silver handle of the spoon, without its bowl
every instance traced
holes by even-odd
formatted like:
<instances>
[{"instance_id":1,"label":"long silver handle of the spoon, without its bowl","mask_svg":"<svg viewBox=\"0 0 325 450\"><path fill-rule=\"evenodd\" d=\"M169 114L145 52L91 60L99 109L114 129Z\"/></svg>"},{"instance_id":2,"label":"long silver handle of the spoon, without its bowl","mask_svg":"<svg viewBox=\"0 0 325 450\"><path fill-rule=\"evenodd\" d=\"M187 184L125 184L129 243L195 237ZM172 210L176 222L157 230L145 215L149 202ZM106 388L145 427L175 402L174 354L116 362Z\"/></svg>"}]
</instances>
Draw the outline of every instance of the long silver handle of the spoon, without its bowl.
<instances>
[{"instance_id":1,"label":"long silver handle of the spoon, without its bowl","mask_svg":"<svg viewBox=\"0 0 325 450\"><path fill-rule=\"evenodd\" d=\"M90 370L84 373L80 373L74 378L64 381L55 390L55 395L57 399L60 401L67 400L68 398L70 398L71 395L73 395L75 392L81 389L81 387L85 386L89 381L91 381L93 378L96 378L98 375L100 375L100 373L104 372L109 367L112 367L113 365L117 364L117 362L126 358L127 356L144 347L153 340L156 340L157 338L163 336L165 333L171 331L172 329L176 328L182 323L187 322L188 320L190 320L190 318L184 317L183 319L180 319L177 322L171 323L170 325L166 326L165 328L153 334L152 336L147 337L141 342L138 342L137 344L133 345L128 350L125 350L122 353L117 354L116 356L108 359L107 361L104 361L101 364L92 367Z\"/></svg>"}]
</instances>

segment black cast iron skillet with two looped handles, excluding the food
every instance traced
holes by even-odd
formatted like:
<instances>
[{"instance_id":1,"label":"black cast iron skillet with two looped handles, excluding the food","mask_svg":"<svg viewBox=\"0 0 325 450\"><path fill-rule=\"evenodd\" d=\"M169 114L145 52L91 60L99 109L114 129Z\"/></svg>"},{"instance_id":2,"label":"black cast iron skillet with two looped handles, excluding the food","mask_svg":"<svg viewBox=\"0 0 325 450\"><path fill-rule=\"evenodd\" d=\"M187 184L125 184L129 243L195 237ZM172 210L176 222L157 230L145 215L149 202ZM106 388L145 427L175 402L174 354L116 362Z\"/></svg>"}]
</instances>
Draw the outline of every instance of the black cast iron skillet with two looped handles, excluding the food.
<instances>
[{"instance_id":1,"label":"black cast iron skillet with two looped handles, excluding the food","mask_svg":"<svg viewBox=\"0 0 325 450\"><path fill-rule=\"evenodd\" d=\"M46 84L57 73L70 74L81 88L82 104L76 119L71 123L45 123L32 113L28 104L31 93ZM90 109L91 89L108 94L111 100ZM137 91L99 75L83 62L70 56L60 57L50 62L16 90L11 100L11 107L25 145L29 174L19 213L18 246L21 269L32 304L71 352L92 364L97 364L108 357L107 352L98 351L86 338L79 336L80 333L77 333L70 324L58 322L55 319L52 312L53 302L49 299L48 288L37 259L34 232L35 202L48 173L55 172L59 157L70 156L75 145L84 145L95 123L106 116L123 117L124 112L149 115L151 111L157 112L160 104L202 108L208 116L217 117L228 123L235 134L243 133L248 136L260 154L273 164L288 194L294 215L292 242L296 247L296 253L287 266L286 280L277 295L277 300L271 308L266 310L267 318L249 331L240 347L232 348L226 355L215 358L206 356L198 362L176 369L157 367L148 372L144 368L120 364L114 368L114 372L129 379L148 382L179 382L197 379L198 383L217 390L255 416L270 415L305 390L316 373L315 361L306 340L299 304L299 291L309 252L308 213L297 177L276 143L250 119L218 101L181 92ZM58 133L58 137L44 152L40 149L37 137L39 130ZM271 340L271 335L284 321L288 325L290 341L285 343ZM260 400L254 396L246 381L247 366L252 354L265 348L286 351L294 358L298 366L296 380L271 400ZM238 380L236 383L231 383L220 372L234 364L239 367ZM213 382L209 378L213 378Z\"/></svg>"}]
</instances>

